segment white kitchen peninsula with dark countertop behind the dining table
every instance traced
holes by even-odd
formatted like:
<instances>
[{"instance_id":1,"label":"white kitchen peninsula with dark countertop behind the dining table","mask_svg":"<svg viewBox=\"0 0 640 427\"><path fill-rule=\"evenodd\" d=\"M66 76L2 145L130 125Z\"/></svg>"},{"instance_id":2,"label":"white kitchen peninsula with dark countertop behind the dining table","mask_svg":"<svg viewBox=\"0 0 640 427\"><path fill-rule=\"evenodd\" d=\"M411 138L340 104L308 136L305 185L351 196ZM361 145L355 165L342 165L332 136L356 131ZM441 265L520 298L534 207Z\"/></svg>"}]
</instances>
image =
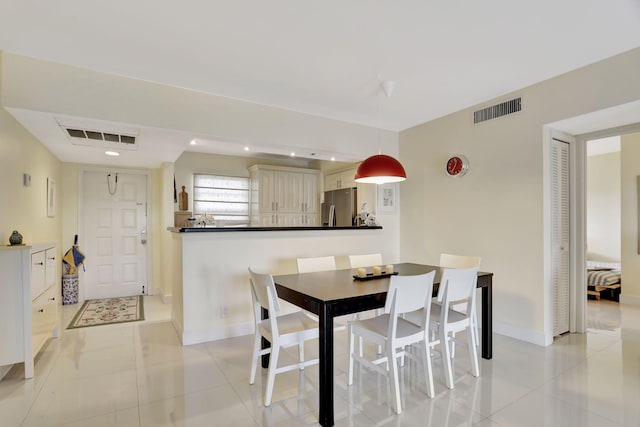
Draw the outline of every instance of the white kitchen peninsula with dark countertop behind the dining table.
<instances>
[{"instance_id":1,"label":"white kitchen peninsula with dark countertop behind the dining table","mask_svg":"<svg viewBox=\"0 0 640 427\"><path fill-rule=\"evenodd\" d=\"M391 227L393 229L394 227ZM170 227L172 321L183 345L253 332L248 267L297 272L296 258L379 252L396 263L396 233L383 227ZM286 307L285 307L286 305ZM283 302L284 310L296 310Z\"/></svg>"}]
</instances>

